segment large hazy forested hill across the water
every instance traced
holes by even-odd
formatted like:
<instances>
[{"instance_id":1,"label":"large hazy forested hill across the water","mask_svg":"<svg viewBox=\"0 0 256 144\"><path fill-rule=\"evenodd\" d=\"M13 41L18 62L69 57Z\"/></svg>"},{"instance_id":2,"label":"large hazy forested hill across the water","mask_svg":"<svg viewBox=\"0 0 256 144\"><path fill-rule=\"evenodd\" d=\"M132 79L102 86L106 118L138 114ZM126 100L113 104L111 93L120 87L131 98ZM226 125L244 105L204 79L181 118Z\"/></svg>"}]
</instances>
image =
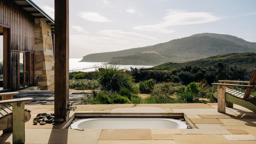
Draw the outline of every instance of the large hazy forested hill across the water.
<instances>
[{"instance_id":1,"label":"large hazy forested hill across the water","mask_svg":"<svg viewBox=\"0 0 256 144\"><path fill-rule=\"evenodd\" d=\"M219 54L256 52L256 42L232 35L200 33L169 42L117 52L90 54L85 62L110 62L120 65L159 65L183 63ZM117 57L118 56L118 57ZM147 56L150 56L147 58Z\"/></svg>"}]
</instances>

